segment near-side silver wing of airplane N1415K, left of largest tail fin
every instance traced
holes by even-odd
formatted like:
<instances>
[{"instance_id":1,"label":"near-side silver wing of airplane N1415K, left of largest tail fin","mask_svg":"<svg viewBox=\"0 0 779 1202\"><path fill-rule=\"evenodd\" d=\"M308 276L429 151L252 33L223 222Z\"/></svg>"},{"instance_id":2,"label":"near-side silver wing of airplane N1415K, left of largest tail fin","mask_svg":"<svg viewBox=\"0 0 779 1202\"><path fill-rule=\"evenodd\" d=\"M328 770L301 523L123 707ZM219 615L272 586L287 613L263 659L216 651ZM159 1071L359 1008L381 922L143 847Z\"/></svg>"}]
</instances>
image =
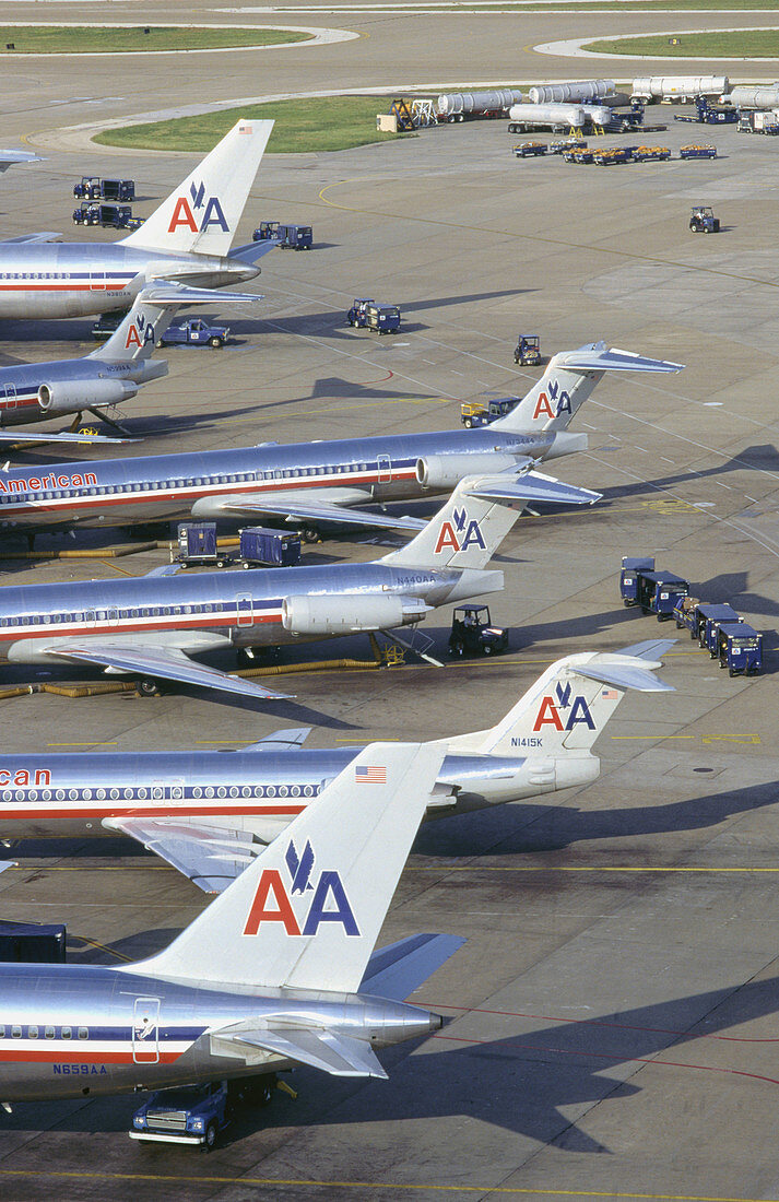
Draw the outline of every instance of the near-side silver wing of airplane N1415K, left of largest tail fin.
<instances>
[{"instance_id":1,"label":"near-side silver wing of airplane N1415K, left of largest tail fin","mask_svg":"<svg viewBox=\"0 0 779 1202\"><path fill-rule=\"evenodd\" d=\"M266 846L252 843L245 831L185 817L115 817L103 819L102 825L143 844L203 893L221 893Z\"/></svg>"}]
</instances>

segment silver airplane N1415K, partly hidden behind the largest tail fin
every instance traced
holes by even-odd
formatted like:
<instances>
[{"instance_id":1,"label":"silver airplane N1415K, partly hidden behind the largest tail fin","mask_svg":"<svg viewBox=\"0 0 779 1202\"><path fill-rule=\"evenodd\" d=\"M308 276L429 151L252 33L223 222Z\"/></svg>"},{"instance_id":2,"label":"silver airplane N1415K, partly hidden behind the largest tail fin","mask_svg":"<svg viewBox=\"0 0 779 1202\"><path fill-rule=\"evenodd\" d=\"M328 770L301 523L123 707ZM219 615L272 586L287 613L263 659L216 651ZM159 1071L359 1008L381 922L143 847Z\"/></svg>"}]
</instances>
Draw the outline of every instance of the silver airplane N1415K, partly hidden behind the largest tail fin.
<instances>
[{"instance_id":1,"label":"silver airplane N1415K, partly hidden behind the largest tail fin","mask_svg":"<svg viewBox=\"0 0 779 1202\"><path fill-rule=\"evenodd\" d=\"M426 819L588 785L591 746L628 689L659 692L673 639L557 660L487 731L435 739ZM219 893L345 772L359 748L305 749L310 727L220 751L0 755L0 840L127 835ZM11 867L12 861L0 861Z\"/></svg>"}]
</instances>

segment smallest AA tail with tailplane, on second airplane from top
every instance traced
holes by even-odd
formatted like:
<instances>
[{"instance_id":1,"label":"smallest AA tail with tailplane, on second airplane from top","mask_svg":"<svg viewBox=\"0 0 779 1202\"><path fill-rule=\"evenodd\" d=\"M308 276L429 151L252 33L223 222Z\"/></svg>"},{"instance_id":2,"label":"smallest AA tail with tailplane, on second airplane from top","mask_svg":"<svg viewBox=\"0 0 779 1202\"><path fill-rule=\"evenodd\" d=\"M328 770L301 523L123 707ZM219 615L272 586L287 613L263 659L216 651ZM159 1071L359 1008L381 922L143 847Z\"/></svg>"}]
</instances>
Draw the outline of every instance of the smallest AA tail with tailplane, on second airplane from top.
<instances>
[{"instance_id":1,"label":"smallest AA tail with tailplane, on second airplane from top","mask_svg":"<svg viewBox=\"0 0 779 1202\"><path fill-rule=\"evenodd\" d=\"M262 299L252 292L225 292L167 284L143 288L107 343L87 356L107 363L148 359L174 315L200 304L250 304Z\"/></svg>"}]
</instances>

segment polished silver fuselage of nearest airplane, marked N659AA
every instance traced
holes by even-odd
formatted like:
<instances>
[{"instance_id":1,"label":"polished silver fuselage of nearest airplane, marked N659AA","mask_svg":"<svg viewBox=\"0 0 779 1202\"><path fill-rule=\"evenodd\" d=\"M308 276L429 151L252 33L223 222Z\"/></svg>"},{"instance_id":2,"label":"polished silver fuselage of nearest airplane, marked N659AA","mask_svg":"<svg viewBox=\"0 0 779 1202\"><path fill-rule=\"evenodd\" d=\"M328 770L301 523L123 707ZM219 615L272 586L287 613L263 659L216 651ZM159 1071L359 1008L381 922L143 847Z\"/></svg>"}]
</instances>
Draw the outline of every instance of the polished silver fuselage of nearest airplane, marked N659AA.
<instances>
[{"instance_id":1,"label":"polished silver fuselage of nearest airplane, marked N659AA","mask_svg":"<svg viewBox=\"0 0 779 1202\"><path fill-rule=\"evenodd\" d=\"M289 1067L261 1048L219 1049L216 1033L276 1019L375 1047L440 1025L416 1006L361 994L220 988L76 964L0 964L0 1101L156 1089Z\"/></svg>"}]
</instances>

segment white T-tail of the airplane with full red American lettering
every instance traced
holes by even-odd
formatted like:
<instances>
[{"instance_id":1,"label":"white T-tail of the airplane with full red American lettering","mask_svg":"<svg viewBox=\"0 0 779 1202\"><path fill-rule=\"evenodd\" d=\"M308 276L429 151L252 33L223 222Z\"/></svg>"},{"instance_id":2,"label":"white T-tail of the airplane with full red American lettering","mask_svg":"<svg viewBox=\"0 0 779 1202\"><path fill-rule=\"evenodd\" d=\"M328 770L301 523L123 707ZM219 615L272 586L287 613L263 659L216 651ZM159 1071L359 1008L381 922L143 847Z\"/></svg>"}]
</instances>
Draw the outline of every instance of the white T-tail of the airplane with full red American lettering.
<instances>
[{"instance_id":1,"label":"white T-tail of the airplane with full red American lettering","mask_svg":"<svg viewBox=\"0 0 779 1202\"><path fill-rule=\"evenodd\" d=\"M684 364L649 359L619 351L606 343L590 343L577 351L553 355L539 382L519 404L493 422L493 429L511 434L564 430L606 371L680 371Z\"/></svg>"}]
</instances>

